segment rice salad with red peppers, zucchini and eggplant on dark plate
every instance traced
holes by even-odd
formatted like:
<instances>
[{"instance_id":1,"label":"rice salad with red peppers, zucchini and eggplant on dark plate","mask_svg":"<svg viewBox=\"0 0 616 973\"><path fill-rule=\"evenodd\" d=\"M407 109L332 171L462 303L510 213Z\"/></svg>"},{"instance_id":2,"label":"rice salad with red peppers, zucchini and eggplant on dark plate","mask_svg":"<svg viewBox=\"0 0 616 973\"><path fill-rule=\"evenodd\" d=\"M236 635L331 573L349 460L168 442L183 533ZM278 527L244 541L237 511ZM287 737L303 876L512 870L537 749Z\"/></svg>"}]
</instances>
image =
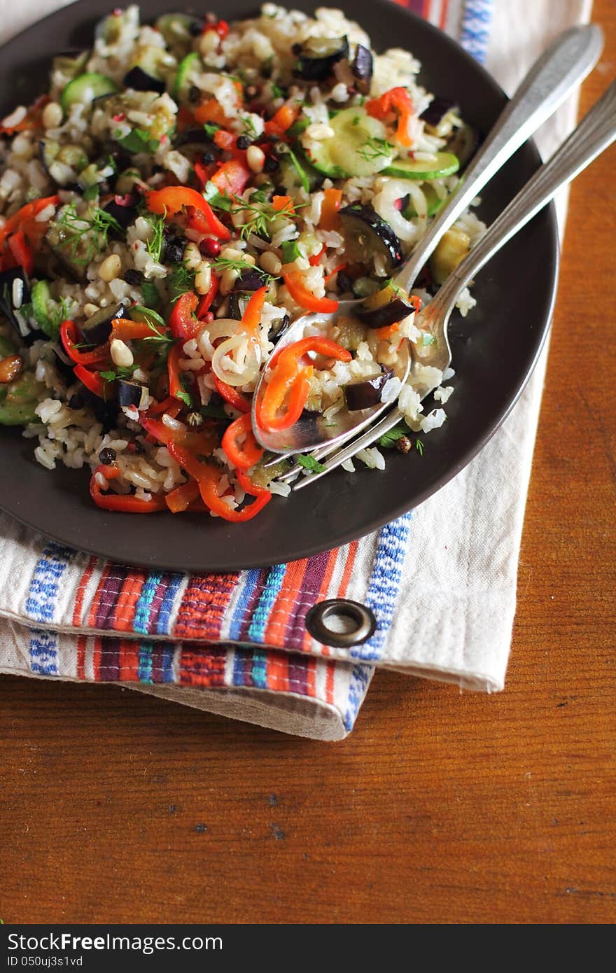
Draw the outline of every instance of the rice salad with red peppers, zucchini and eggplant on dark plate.
<instances>
[{"instance_id":1,"label":"rice salad with red peppers, zucchini and eggplant on dark plate","mask_svg":"<svg viewBox=\"0 0 616 973\"><path fill-rule=\"evenodd\" d=\"M258 420L397 400L404 424L358 458L418 450L453 371L424 367L424 414L398 351L430 341L416 311L485 231L467 211L417 288L393 284L478 143L418 69L339 10L272 3L235 23L129 6L56 56L0 123L0 424L48 469L89 469L105 510L249 520L290 488L250 418L276 342L361 298L279 350Z\"/></svg>"}]
</instances>

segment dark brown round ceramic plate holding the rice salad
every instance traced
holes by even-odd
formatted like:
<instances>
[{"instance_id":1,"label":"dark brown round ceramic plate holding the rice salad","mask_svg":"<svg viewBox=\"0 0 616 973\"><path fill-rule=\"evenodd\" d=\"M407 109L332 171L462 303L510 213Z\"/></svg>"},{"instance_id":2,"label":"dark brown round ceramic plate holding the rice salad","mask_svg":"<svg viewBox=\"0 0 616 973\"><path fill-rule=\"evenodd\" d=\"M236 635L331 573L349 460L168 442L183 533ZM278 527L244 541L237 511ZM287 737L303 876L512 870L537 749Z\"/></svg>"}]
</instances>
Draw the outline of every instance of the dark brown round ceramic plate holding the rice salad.
<instances>
[{"instance_id":1,"label":"dark brown round ceramic plate holding the rice salad","mask_svg":"<svg viewBox=\"0 0 616 973\"><path fill-rule=\"evenodd\" d=\"M222 9L215 0L211 6ZM289 6L313 10L303 0ZM428 90L454 97L468 122L489 130L505 95L445 34L390 0L348 0L340 6L363 24L377 50L412 51L423 65L419 81ZM52 56L87 47L94 22L112 7L110 0L80 0L5 45L0 50L0 118L46 90ZM142 7L143 18L154 19L177 7L182 4L149 0ZM225 0L224 17L252 15L256 7L246 0ZM482 193L481 217L491 222L538 164L534 145L527 143ZM230 571L304 558L344 544L416 507L486 445L536 362L549 326L557 270L557 227L550 207L482 270L474 289L478 306L466 321L453 318L455 393L448 421L425 437L422 457L388 452L382 473L339 470L287 500L274 499L254 521L234 525L202 515L104 513L91 503L87 473L43 469L32 457L31 443L17 430L2 429L0 508L72 547L151 568Z\"/></svg>"}]
</instances>

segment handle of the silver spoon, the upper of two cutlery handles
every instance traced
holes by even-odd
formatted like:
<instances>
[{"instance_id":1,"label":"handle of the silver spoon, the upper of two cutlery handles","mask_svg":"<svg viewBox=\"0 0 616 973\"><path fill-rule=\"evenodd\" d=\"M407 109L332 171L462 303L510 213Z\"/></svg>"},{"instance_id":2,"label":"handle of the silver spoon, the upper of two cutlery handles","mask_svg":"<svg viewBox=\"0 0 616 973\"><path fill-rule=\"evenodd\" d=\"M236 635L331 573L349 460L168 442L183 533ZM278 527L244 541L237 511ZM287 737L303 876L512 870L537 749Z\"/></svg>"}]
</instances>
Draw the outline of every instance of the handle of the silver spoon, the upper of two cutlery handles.
<instances>
[{"instance_id":1,"label":"handle of the silver spoon, the upper of two cutlery handles","mask_svg":"<svg viewBox=\"0 0 616 973\"><path fill-rule=\"evenodd\" d=\"M417 243L395 282L409 290L441 236L525 140L557 110L593 69L603 48L597 24L565 30L541 54L498 121L452 198Z\"/></svg>"}]
</instances>

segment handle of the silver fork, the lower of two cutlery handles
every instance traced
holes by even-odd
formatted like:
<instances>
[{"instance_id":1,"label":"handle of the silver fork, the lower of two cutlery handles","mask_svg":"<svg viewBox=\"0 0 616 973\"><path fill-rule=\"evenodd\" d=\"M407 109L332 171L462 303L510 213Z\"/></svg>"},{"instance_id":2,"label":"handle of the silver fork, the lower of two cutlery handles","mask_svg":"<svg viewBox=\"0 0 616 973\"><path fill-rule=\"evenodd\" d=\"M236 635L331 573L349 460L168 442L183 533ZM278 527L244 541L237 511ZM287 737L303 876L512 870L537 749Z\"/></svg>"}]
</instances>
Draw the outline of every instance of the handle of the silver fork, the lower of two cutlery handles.
<instances>
[{"instance_id":1,"label":"handle of the silver fork, the lower of two cutlery handles","mask_svg":"<svg viewBox=\"0 0 616 973\"><path fill-rule=\"evenodd\" d=\"M616 81L574 128L561 148L545 162L494 220L485 236L462 260L438 291L433 304L447 316L460 291L497 250L517 234L567 183L616 139ZM430 305L432 306L432 305Z\"/></svg>"}]
</instances>

